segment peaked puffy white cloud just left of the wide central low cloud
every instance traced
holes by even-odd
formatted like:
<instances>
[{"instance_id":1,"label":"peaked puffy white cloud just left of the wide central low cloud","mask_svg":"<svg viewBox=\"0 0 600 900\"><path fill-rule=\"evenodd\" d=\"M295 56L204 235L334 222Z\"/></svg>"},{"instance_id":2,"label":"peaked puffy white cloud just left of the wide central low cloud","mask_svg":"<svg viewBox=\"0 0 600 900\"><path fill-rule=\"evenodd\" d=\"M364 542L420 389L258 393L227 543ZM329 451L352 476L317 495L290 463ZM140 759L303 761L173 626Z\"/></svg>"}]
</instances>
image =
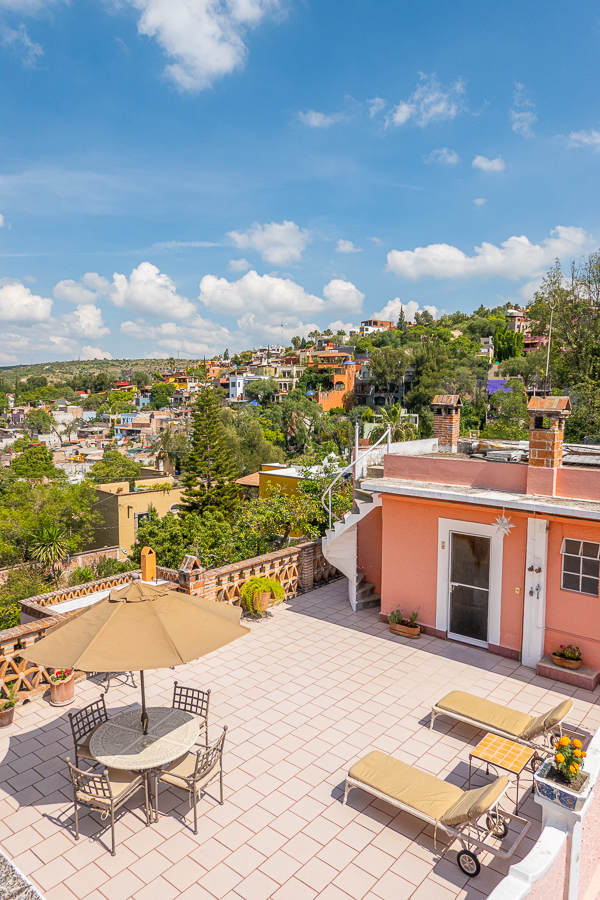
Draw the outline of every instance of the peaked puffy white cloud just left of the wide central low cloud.
<instances>
[{"instance_id":1,"label":"peaked puffy white cloud just left of the wide central low cloud","mask_svg":"<svg viewBox=\"0 0 600 900\"><path fill-rule=\"evenodd\" d=\"M194 304L177 293L175 282L149 262L140 263L129 279L115 272L111 283L97 272L86 272L81 281L60 281L54 296L78 304L106 298L114 306L160 318L186 319L196 314Z\"/></svg>"}]
</instances>

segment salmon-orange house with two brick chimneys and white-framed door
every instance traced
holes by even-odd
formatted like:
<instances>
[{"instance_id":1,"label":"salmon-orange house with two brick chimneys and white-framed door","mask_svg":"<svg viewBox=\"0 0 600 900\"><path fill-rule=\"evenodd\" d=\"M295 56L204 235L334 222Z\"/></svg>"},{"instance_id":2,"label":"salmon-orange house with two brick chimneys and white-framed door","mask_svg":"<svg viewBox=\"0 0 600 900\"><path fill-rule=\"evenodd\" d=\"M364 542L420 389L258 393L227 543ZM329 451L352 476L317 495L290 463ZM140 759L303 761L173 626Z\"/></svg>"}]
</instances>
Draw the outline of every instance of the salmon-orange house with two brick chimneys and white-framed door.
<instances>
[{"instance_id":1,"label":"salmon-orange house with two brick chimneys and white-framed door","mask_svg":"<svg viewBox=\"0 0 600 900\"><path fill-rule=\"evenodd\" d=\"M323 539L349 578L352 606L373 597L372 585L383 620L397 607L418 610L425 633L546 666L543 674L553 664L542 657L579 646L588 669L571 683L593 689L600 454L563 447L570 409L568 397L534 397L528 447L459 453L460 399L436 397L434 440L396 445L380 477L371 469L360 481L363 502Z\"/></svg>"}]
</instances>

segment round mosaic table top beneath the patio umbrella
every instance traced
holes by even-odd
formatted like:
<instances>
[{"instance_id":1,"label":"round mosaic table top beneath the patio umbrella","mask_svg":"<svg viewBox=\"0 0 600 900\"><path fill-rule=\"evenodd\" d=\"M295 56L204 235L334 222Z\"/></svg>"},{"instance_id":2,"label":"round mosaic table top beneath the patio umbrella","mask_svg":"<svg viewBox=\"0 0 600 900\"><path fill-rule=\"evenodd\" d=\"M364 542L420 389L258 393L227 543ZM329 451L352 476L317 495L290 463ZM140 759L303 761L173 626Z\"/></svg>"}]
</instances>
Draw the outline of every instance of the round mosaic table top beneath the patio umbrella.
<instances>
[{"instance_id":1,"label":"round mosaic table top beneath the patio umbrella","mask_svg":"<svg viewBox=\"0 0 600 900\"><path fill-rule=\"evenodd\" d=\"M151 706L148 734L142 733L141 711L130 710L105 722L92 736L90 750L111 769L143 771L173 762L194 745L198 720L181 709Z\"/></svg>"}]
</instances>

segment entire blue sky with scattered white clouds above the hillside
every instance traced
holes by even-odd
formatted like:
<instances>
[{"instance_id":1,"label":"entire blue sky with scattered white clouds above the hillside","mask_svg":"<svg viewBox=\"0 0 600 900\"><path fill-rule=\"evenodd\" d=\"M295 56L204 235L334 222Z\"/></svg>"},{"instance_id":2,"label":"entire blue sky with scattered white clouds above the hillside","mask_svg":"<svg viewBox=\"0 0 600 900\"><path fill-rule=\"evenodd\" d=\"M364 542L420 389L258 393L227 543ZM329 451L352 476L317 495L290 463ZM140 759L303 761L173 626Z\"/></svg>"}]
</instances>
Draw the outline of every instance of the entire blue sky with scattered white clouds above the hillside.
<instances>
[{"instance_id":1,"label":"entire blue sky with scattered white clouds above the hillside","mask_svg":"<svg viewBox=\"0 0 600 900\"><path fill-rule=\"evenodd\" d=\"M0 0L0 365L528 300L600 240L600 5Z\"/></svg>"}]
</instances>

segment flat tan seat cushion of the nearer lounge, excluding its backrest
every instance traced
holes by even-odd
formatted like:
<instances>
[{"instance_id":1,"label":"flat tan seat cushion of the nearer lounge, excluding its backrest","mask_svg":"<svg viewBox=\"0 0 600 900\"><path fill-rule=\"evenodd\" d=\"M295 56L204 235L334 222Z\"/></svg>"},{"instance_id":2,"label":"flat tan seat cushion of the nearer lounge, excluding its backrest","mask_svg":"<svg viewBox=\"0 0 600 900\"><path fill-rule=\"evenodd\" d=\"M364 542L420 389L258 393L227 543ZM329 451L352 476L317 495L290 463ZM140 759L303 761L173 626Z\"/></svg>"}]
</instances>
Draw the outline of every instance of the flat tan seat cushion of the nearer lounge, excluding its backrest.
<instances>
[{"instance_id":1,"label":"flat tan seat cushion of the nearer lounge, excluding its backrest","mask_svg":"<svg viewBox=\"0 0 600 900\"><path fill-rule=\"evenodd\" d=\"M354 763L348 775L432 819L440 819L463 794L456 785L379 750Z\"/></svg>"}]
</instances>

